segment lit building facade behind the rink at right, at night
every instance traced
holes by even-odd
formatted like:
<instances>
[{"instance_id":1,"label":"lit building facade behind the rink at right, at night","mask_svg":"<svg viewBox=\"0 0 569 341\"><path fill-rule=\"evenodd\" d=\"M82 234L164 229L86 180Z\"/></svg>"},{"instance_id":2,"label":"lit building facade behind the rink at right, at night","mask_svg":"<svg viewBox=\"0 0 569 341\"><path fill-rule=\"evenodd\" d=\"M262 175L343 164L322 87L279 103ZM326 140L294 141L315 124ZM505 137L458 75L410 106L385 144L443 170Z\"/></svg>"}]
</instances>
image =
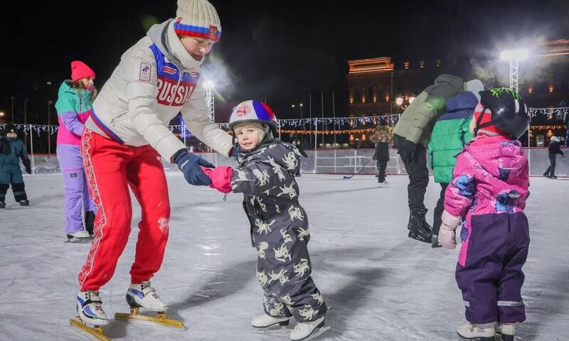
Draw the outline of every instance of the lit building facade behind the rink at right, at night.
<instances>
[{"instance_id":1,"label":"lit building facade behind the rink at right, at night","mask_svg":"<svg viewBox=\"0 0 569 341\"><path fill-rule=\"evenodd\" d=\"M492 64L494 63L494 64ZM401 114L437 75L450 73L464 80L479 78L486 88L508 86L509 63L489 58L394 62L390 57L349 60L348 112L350 117ZM569 40L538 45L519 62L519 92L531 108L569 106ZM546 146L553 134L565 136L563 112L534 117L531 146ZM356 136L357 138L361 136ZM524 139L524 138L522 138ZM527 141L527 135L525 140Z\"/></svg>"}]
</instances>

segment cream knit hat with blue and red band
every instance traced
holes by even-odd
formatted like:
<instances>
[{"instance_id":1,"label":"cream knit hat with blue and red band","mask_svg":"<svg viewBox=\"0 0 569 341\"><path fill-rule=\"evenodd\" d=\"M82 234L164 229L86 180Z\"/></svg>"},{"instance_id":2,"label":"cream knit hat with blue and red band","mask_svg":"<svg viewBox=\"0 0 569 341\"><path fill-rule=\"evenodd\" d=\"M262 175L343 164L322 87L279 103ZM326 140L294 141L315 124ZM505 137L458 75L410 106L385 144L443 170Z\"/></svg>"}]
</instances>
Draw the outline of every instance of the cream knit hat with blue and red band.
<instances>
[{"instance_id":1,"label":"cream knit hat with blue and red band","mask_svg":"<svg viewBox=\"0 0 569 341\"><path fill-rule=\"evenodd\" d=\"M178 0L174 31L180 36L192 36L218 41L221 23L218 13L207 0Z\"/></svg>"}]
</instances>

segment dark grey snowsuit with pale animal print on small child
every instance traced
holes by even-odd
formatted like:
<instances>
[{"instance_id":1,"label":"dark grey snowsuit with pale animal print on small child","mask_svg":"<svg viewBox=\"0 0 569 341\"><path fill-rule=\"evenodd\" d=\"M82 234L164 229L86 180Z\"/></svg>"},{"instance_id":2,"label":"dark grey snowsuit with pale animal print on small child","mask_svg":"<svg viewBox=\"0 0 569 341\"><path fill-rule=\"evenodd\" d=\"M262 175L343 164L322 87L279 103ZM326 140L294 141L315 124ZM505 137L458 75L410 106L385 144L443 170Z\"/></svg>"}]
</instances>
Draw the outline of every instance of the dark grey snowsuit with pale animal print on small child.
<instances>
[{"instance_id":1,"label":"dark grey snowsuit with pale animal print on small child","mask_svg":"<svg viewBox=\"0 0 569 341\"><path fill-rule=\"evenodd\" d=\"M308 217L294 180L299 157L297 148L279 139L240 153L231 188L244 195L265 313L307 322L324 316L327 308L310 276Z\"/></svg>"}]
</instances>

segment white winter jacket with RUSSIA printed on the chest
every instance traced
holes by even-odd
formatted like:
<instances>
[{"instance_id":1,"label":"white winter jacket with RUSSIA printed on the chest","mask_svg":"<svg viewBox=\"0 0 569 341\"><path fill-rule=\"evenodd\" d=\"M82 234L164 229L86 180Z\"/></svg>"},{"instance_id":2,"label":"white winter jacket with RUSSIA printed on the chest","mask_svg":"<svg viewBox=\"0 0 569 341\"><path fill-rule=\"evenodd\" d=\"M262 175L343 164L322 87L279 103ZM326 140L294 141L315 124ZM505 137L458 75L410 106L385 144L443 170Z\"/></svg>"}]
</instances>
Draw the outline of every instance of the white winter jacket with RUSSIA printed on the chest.
<instances>
[{"instance_id":1,"label":"white winter jacket with RUSSIA printed on the chest","mask_svg":"<svg viewBox=\"0 0 569 341\"><path fill-rule=\"evenodd\" d=\"M191 59L172 23L152 26L122 55L85 126L121 144L149 144L172 162L174 153L186 148L168 129L181 112L192 134L227 156L233 139L208 117L201 61Z\"/></svg>"}]
</instances>

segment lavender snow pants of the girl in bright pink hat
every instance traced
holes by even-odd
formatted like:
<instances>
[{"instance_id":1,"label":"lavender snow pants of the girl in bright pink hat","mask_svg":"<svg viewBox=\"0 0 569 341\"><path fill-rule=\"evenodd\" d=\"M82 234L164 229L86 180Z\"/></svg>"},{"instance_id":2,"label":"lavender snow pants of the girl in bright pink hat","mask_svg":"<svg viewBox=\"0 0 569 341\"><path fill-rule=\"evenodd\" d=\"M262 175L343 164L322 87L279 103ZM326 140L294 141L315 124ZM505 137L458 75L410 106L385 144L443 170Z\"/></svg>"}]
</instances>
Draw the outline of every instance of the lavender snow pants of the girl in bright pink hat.
<instances>
[{"instance_id":1,"label":"lavender snow pants of the girl in bright pink hat","mask_svg":"<svg viewBox=\"0 0 569 341\"><path fill-rule=\"evenodd\" d=\"M57 154L65 183L65 233L82 231L83 210L97 212L97 207L89 196L89 185L83 172L81 146L58 144Z\"/></svg>"}]
</instances>

